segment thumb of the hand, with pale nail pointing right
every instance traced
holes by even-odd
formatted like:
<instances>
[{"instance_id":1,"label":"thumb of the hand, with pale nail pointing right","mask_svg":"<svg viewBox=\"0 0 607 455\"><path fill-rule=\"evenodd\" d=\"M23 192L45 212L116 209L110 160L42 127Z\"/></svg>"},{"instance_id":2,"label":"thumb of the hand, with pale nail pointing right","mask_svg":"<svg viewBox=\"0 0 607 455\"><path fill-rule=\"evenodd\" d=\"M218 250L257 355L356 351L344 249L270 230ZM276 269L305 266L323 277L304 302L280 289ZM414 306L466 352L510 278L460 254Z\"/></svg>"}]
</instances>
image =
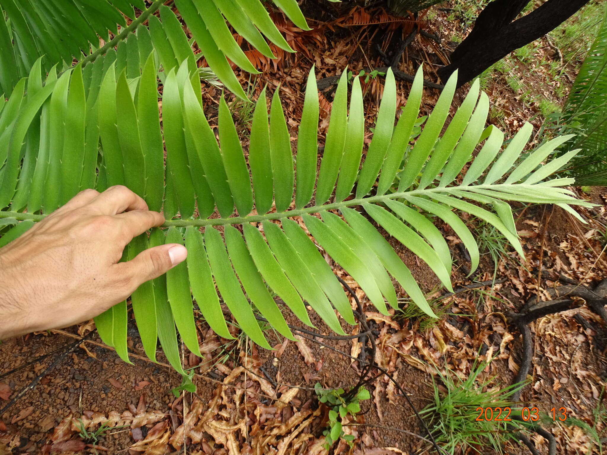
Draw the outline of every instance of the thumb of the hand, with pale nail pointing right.
<instances>
[{"instance_id":1,"label":"thumb of the hand, with pale nail pointing right","mask_svg":"<svg viewBox=\"0 0 607 455\"><path fill-rule=\"evenodd\" d=\"M185 261L188 250L178 243L167 243L164 245L148 248L130 261L118 263L122 268L120 273L132 279L132 288L137 289L141 283L166 273L169 269Z\"/></svg>"}]
</instances>

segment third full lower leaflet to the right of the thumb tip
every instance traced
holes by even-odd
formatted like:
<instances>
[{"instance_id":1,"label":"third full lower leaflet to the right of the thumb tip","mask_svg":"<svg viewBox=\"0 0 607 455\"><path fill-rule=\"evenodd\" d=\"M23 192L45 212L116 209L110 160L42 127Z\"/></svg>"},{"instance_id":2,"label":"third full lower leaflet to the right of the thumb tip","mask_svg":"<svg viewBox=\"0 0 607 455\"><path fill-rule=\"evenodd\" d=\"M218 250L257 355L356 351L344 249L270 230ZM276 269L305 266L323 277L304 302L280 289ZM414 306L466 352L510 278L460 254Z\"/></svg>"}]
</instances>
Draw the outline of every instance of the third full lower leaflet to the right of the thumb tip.
<instances>
[{"instance_id":1,"label":"third full lower leaflet to the right of the thumb tip","mask_svg":"<svg viewBox=\"0 0 607 455\"><path fill-rule=\"evenodd\" d=\"M243 288L245 288L247 297L273 328L288 339L296 341L280 309L276 305L276 302L274 302L270 292L268 292L268 288L263 282L262 277L260 277L240 232L236 227L226 226L224 235L232 266L238 274Z\"/></svg>"}]
</instances>

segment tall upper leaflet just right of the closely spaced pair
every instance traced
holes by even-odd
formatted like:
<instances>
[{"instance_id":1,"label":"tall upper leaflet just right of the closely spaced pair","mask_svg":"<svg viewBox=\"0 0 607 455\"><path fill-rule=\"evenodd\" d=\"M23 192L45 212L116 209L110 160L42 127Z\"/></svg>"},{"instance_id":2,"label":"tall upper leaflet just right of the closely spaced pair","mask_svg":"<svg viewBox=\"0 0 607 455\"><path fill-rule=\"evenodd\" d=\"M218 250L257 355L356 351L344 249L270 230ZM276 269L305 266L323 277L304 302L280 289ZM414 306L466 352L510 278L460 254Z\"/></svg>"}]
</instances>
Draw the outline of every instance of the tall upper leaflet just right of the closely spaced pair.
<instances>
[{"instance_id":1,"label":"tall upper leaflet just right of the closely spaced pair","mask_svg":"<svg viewBox=\"0 0 607 455\"><path fill-rule=\"evenodd\" d=\"M379 169L384 163L384 158L388 152L390 141L392 141L392 132L394 131L394 118L396 116L396 82L392 68L388 69L385 76L384 94L381 104L373 139L369 144L365 162L362 164L361 175L358 178L356 186L356 197L361 198L367 195L373 187L373 183L378 178Z\"/></svg>"}]
</instances>

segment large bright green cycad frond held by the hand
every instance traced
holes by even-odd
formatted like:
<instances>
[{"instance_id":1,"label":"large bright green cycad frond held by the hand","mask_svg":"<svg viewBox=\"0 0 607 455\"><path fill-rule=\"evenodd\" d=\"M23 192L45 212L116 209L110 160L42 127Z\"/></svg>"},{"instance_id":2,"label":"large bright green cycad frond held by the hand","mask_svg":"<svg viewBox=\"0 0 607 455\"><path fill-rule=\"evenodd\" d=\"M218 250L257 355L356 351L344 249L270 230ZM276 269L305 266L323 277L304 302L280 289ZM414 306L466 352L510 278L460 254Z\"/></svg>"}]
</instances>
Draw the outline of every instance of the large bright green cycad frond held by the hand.
<instances>
[{"instance_id":1,"label":"large bright green cycad frond held by the hand","mask_svg":"<svg viewBox=\"0 0 607 455\"><path fill-rule=\"evenodd\" d=\"M51 69L42 84L38 60L27 83L19 81L0 112L5 139L0 140L0 226L9 228L0 245L87 187L103 190L126 184L151 209L163 209L168 231L154 229L149 237L135 238L124 259L148 246L185 241L188 260L144 283L131 298L148 356L155 359L160 340L181 372L175 327L185 345L199 354L192 296L217 334L232 338L221 298L240 329L266 348L270 346L254 309L289 338L293 335L283 308L311 325L306 303L338 333L344 333L339 316L354 323L344 290L308 232L379 311L396 308L392 276L413 302L433 315L378 226L425 261L450 289L449 248L425 215L453 228L475 269L478 248L453 209L495 226L522 254L506 201L555 203L574 214L569 204L589 205L562 188L572 179L544 181L575 155L573 150L545 163L571 136L543 144L513 167L529 140L531 125L525 124L501 150L503 133L484 127L489 99L485 93L479 97L478 81L440 135L455 92L454 75L409 148L418 123L422 72L418 71L395 126L396 84L389 71L363 159L361 84L354 78L348 110L344 72L317 171L319 103L314 72L308 77L294 160L278 91L269 116L265 90L257 100L246 154L223 98L217 141L202 109L197 70L191 71L188 59L166 72L161 129L154 55L141 61L143 70L136 78L127 76L128 68L119 70L111 62L87 87L81 66L58 78ZM480 143L478 155L460 179ZM211 218L215 212L219 218ZM284 306L277 305L271 292ZM126 302L96 322L103 340L127 360Z\"/></svg>"}]
</instances>

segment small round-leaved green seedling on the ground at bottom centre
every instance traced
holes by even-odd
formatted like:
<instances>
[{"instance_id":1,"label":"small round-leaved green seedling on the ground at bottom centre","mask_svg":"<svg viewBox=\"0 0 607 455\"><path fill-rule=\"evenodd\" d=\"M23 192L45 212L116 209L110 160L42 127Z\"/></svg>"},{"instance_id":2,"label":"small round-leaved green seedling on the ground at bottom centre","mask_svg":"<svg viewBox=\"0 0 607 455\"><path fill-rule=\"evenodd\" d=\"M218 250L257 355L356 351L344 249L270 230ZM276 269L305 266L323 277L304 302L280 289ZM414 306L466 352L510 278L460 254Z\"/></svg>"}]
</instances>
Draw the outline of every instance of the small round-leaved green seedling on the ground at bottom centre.
<instances>
[{"instance_id":1,"label":"small round-leaved green seedling on the ground at bottom centre","mask_svg":"<svg viewBox=\"0 0 607 455\"><path fill-rule=\"evenodd\" d=\"M359 402L361 400L370 399L371 394L367 389L361 387L358 389L358 393L356 393L353 399L345 400L344 389L324 389L319 382L314 385L314 389L316 389L316 394L319 396L318 400L320 403L325 403L325 405L331 408L329 411L328 428L322 432L326 441L325 449L329 450L331 445L340 437L352 447L354 436L351 434L344 434L344 430L342 430L342 419L348 414L356 416L361 410Z\"/></svg>"}]
</instances>

